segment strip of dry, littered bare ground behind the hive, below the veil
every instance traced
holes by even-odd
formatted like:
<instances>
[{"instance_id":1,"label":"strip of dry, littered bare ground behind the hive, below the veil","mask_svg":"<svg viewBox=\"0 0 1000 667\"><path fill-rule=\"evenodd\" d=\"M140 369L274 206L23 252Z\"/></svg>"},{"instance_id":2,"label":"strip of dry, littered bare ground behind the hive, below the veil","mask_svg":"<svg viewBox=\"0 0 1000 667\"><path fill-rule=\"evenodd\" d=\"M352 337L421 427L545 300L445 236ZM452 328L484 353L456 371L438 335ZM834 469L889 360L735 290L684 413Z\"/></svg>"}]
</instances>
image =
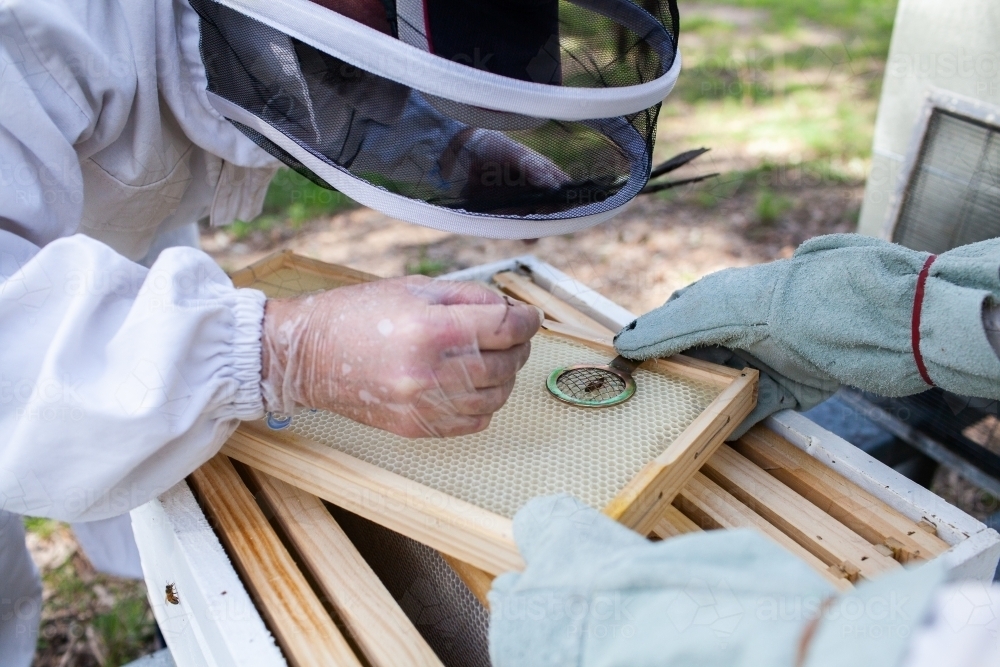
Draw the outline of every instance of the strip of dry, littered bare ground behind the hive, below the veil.
<instances>
[{"instance_id":1,"label":"strip of dry, littered bare ground behind the hive, below the veil","mask_svg":"<svg viewBox=\"0 0 1000 667\"><path fill-rule=\"evenodd\" d=\"M713 271L787 257L808 238L852 231L863 188L827 184L779 191L775 196L787 200L787 211L773 222L759 219L756 191L705 203L706 192L711 196L710 188L692 188L672 199L642 197L608 223L531 244L448 234L368 208L315 221L290 238L261 235L230 243L224 233L209 230L202 244L230 270L289 248L381 276L420 268L444 273L530 253L638 313Z\"/></svg>"}]
</instances>

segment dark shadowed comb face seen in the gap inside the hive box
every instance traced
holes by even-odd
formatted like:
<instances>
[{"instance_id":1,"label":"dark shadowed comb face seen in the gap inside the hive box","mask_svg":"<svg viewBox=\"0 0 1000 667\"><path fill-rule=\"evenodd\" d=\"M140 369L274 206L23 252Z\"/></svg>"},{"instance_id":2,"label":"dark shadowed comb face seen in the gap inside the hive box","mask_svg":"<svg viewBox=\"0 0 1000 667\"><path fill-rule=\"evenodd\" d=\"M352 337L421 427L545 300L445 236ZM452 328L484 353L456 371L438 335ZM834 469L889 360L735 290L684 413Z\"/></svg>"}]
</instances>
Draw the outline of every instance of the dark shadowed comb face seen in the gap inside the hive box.
<instances>
[{"instance_id":1,"label":"dark shadowed comb face seen in the gap inside the hive box","mask_svg":"<svg viewBox=\"0 0 1000 667\"><path fill-rule=\"evenodd\" d=\"M489 612L437 551L328 507L441 662L447 667L489 667Z\"/></svg>"}]
</instances>

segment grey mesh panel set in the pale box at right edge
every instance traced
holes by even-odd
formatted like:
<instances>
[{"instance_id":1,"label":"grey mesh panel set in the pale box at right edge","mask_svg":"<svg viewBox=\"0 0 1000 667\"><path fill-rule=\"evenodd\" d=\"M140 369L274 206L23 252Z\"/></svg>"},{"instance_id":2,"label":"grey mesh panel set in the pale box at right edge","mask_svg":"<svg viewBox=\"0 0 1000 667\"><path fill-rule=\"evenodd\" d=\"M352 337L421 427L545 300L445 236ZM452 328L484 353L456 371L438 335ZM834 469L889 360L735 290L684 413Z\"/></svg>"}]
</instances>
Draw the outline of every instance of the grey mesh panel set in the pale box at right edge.
<instances>
[{"instance_id":1,"label":"grey mesh panel set in the pale box at right edge","mask_svg":"<svg viewBox=\"0 0 1000 667\"><path fill-rule=\"evenodd\" d=\"M996 127L937 109L904 194L892 240L941 253L1000 236Z\"/></svg>"}]
</instances>

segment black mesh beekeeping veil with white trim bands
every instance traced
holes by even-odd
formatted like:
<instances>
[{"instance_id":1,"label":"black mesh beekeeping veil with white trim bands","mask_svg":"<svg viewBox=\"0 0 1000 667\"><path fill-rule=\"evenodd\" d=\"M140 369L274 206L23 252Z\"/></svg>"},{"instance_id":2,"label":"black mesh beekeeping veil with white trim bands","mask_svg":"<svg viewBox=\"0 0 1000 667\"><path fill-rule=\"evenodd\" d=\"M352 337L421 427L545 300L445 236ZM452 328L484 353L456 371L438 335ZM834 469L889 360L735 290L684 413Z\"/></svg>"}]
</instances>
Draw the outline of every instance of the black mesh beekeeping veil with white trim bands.
<instances>
[{"instance_id":1,"label":"black mesh beekeeping veil with white trim bands","mask_svg":"<svg viewBox=\"0 0 1000 667\"><path fill-rule=\"evenodd\" d=\"M631 200L680 68L673 0L191 4L209 99L257 144L481 236L566 233Z\"/></svg>"}]
</instances>

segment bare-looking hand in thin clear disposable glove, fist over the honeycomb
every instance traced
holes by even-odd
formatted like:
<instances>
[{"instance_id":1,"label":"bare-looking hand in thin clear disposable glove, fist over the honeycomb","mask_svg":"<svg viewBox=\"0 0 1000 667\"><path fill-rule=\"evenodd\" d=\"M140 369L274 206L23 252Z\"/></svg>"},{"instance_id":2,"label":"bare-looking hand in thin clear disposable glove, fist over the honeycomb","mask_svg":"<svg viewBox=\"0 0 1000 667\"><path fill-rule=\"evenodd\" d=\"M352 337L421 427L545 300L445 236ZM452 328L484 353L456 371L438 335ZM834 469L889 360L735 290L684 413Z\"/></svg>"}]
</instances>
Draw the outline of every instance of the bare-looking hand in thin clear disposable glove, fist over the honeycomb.
<instances>
[{"instance_id":1,"label":"bare-looking hand in thin clear disposable glove, fist over the honeycomb","mask_svg":"<svg viewBox=\"0 0 1000 667\"><path fill-rule=\"evenodd\" d=\"M272 299L265 408L322 408L408 437L481 431L531 350L539 311L423 276Z\"/></svg>"}]
</instances>

